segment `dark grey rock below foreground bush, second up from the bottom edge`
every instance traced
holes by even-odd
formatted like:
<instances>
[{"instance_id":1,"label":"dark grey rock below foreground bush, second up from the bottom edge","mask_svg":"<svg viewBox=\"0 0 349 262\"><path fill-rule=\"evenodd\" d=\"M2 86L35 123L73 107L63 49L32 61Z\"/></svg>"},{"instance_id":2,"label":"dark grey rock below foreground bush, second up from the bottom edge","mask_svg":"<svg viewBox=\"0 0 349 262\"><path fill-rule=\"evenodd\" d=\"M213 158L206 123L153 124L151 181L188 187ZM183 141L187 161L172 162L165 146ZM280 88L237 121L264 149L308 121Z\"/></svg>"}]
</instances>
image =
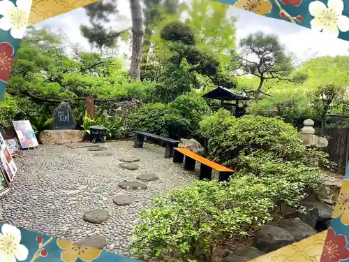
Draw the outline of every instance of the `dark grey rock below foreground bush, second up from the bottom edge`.
<instances>
[{"instance_id":1,"label":"dark grey rock below foreground bush, second up from the bottom edge","mask_svg":"<svg viewBox=\"0 0 349 262\"><path fill-rule=\"evenodd\" d=\"M265 225L255 233L253 238L253 247L260 249L262 252L269 253L281 247L295 242L295 238L278 226Z\"/></svg>"}]
</instances>

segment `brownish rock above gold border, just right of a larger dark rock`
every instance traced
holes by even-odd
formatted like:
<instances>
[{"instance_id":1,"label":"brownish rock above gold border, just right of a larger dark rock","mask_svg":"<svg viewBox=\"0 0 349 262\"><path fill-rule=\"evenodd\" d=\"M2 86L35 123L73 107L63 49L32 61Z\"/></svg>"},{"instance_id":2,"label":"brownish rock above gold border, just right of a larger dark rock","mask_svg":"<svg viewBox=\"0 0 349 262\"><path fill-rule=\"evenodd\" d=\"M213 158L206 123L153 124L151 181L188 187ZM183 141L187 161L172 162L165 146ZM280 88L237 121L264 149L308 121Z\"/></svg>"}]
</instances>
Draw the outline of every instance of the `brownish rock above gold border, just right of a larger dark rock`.
<instances>
[{"instance_id":1,"label":"brownish rock above gold border, just right of a larger dark rock","mask_svg":"<svg viewBox=\"0 0 349 262\"><path fill-rule=\"evenodd\" d=\"M316 234L316 231L311 226L303 223L298 217L285 219L281 222L279 227L293 235L293 238L295 238L296 241L300 241Z\"/></svg>"}]
</instances>

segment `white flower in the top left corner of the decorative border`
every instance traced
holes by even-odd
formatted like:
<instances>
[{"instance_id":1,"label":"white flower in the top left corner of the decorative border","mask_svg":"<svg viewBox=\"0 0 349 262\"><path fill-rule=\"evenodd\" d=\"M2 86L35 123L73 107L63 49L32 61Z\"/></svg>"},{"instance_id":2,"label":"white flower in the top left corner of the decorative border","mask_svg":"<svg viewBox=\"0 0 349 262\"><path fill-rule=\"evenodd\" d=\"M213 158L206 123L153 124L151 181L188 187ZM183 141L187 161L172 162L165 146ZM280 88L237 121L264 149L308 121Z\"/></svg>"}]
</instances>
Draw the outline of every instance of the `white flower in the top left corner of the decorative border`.
<instances>
[{"instance_id":1,"label":"white flower in the top left corner of the decorative border","mask_svg":"<svg viewBox=\"0 0 349 262\"><path fill-rule=\"evenodd\" d=\"M16 5L9 0L0 0L0 29L10 31L13 38L21 39L27 29L31 0L17 0Z\"/></svg>"}]
</instances>

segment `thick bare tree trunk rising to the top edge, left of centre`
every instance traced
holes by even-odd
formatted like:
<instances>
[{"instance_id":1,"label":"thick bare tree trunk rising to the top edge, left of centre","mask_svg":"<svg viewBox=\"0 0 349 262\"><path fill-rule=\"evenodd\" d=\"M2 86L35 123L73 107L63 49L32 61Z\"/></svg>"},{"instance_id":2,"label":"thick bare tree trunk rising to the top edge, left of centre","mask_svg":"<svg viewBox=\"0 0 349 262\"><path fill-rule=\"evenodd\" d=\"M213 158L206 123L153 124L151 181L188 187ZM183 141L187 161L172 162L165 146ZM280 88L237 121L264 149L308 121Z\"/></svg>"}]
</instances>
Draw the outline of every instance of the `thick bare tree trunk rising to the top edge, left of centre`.
<instances>
[{"instance_id":1,"label":"thick bare tree trunk rising to the top edge, left of centre","mask_svg":"<svg viewBox=\"0 0 349 262\"><path fill-rule=\"evenodd\" d=\"M140 61L142 59L142 9L140 0L130 0L132 15L132 57L131 57L131 78L140 80Z\"/></svg>"}]
</instances>

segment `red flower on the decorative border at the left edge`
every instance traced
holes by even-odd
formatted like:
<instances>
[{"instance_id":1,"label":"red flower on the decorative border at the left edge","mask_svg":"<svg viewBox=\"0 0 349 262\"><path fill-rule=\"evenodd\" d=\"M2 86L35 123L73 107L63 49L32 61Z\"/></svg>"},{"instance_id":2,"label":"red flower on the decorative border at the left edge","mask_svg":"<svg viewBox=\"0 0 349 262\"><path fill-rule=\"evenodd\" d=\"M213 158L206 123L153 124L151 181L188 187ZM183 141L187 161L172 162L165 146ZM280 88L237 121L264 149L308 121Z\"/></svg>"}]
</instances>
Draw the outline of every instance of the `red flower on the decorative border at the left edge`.
<instances>
[{"instance_id":1,"label":"red flower on the decorative border at the left edge","mask_svg":"<svg viewBox=\"0 0 349 262\"><path fill-rule=\"evenodd\" d=\"M13 65L15 50L9 43L0 43L0 81L7 82Z\"/></svg>"}]
</instances>

